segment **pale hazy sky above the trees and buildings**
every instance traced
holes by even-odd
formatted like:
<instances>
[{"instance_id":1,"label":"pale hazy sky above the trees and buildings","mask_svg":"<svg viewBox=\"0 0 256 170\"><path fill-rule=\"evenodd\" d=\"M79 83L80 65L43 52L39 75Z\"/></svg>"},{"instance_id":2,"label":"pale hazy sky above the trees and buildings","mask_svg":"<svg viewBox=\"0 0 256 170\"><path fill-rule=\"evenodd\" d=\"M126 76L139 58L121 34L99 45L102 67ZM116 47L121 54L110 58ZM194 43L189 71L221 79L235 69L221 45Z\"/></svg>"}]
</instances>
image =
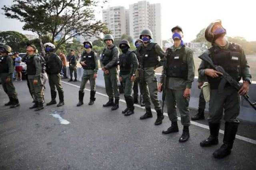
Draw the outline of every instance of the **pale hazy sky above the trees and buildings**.
<instances>
[{"instance_id":1,"label":"pale hazy sky above the trees and buildings","mask_svg":"<svg viewBox=\"0 0 256 170\"><path fill-rule=\"evenodd\" d=\"M130 4L136 2L138 0L108 0L103 9L108 6L124 6L128 9ZM190 42L196 38L200 30L206 28L212 21L220 19L227 36L241 36L247 41L256 41L256 2L252 0L148 0L148 2L161 3L162 40L171 38L172 27L178 25L183 29L184 42ZM12 3L12 0L1 0L0 7L10 6ZM102 20L101 9L98 7L95 13L98 20ZM0 10L0 30L32 34L22 30L23 23L7 19L3 13L3 10Z\"/></svg>"}]
</instances>

